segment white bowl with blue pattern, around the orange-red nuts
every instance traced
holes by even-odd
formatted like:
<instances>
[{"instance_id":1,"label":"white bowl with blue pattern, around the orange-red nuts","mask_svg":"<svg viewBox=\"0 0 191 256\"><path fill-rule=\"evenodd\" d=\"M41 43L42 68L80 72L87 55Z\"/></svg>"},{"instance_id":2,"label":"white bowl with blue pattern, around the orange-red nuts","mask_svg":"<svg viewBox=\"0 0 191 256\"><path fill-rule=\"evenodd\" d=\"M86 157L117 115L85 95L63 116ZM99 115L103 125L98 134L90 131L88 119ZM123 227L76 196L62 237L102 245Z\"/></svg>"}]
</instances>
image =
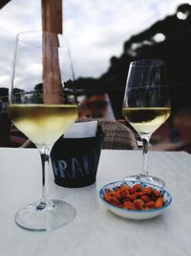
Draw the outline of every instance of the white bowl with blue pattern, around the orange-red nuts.
<instances>
[{"instance_id":1,"label":"white bowl with blue pattern, around the orange-red nuts","mask_svg":"<svg viewBox=\"0 0 191 256\"><path fill-rule=\"evenodd\" d=\"M166 209L168 208L168 206L172 202L171 195L169 194L169 192L167 190L165 190L163 188L160 188L156 185L146 183L146 182L126 181L125 184L127 184L130 187L133 187L135 184L140 184L144 188L152 187L154 190L158 190L163 195L163 198L165 200L165 204L160 208L151 209L151 210L147 210L147 211L127 210L127 209L119 208L119 207L107 202L104 199L104 195L105 195L106 192L108 192L108 190L113 190L113 191L117 190L117 187L121 186L122 184L124 184L123 181L112 182L112 183L109 183L109 184L106 184L105 186L103 186L99 191L99 198L103 202L104 206L108 210L110 210L111 212L113 212L114 214L116 214L120 217L127 218L127 219L132 219L132 220L151 219L151 218L159 216L161 213L166 211Z\"/></svg>"}]
</instances>

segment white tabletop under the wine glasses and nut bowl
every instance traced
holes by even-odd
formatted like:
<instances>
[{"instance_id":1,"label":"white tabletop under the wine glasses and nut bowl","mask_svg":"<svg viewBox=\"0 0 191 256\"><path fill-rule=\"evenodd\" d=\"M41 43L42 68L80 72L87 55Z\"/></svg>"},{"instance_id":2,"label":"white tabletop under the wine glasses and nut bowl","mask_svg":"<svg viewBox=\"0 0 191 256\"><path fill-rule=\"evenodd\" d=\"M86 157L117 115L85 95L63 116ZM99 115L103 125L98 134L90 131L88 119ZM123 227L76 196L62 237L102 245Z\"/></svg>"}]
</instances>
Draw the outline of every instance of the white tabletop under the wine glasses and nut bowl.
<instances>
[{"instance_id":1,"label":"white tabletop under the wine glasses and nut bowl","mask_svg":"<svg viewBox=\"0 0 191 256\"><path fill-rule=\"evenodd\" d=\"M77 189L54 184L52 198L71 202L74 221L47 232L32 232L14 223L16 211L40 198L40 156L34 149L0 149L0 255L113 256L191 255L191 155L149 152L151 174L166 181L173 202L162 215L131 221L112 214L98 198L101 186L139 173L141 151L101 152L96 183Z\"/></svg>"}]
</instances>

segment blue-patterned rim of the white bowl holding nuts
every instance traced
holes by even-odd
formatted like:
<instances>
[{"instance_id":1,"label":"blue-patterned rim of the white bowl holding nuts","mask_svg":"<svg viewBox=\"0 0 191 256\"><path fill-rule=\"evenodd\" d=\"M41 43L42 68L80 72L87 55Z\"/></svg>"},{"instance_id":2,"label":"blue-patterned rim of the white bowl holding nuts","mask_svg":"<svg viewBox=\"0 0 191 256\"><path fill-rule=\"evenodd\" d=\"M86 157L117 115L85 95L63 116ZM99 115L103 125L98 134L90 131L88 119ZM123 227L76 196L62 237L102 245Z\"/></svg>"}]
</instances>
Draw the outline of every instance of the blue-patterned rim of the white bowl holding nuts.
<instances>
[{"instance_id":1,"label":"blue-patterned rim of the white bowl holding nuts","mask_svg":"<svg viewBox=\"0 0 191 256\"><path fill-rule=\"evenodd\" d=\"M161 210L167 208L167 207L171 204L171 202L172 202L172 196L170 195L170 193L169 193L166 189L161 188L161 187L159 187L159 186L157 186L157 185L154 185L154 184L152 184L152 183L149 183L149 182L129 180L129 181L125 181L126 184L128 184L129 182L134 182L135 184L146 184L146 185L150 185L150 186L152 186L152 187L154 187L154 188L158 188L159 190L161 190L161 191L163 191L164 193L167 194L167 196L169 197L169 200L168 200L168 202L167 202L165 205L163 205L162 207L159 207L159 208L157 208L157 209L145 210L145 211L140 211L140 210L128 210L128 209L124 209L124 208L117 207L116 205L111 204L111 203L109 203L108 201L106 201L104 198L102 198L102 197L101 197L101 192L102 192L102 191L104 190L104 188L106 188L107 186L113 185L113 184L119 183L119 182L122 183L123 181L122 181L122 180L113 181L113 182L110 182L110 183L105 184L104 186L102 186L102 187L100 188L100 190L99 190L99 198L100 198L104 203L108 204L110 207L113 207L114 209L117 209L117 210L121 210L121 211L124 212L124 213L125 213L125 212L126 212L126 213L138 213L138 214L156 213L156 212L159 212L159 211L161 211Z\"/></svg>"}]
</instances>

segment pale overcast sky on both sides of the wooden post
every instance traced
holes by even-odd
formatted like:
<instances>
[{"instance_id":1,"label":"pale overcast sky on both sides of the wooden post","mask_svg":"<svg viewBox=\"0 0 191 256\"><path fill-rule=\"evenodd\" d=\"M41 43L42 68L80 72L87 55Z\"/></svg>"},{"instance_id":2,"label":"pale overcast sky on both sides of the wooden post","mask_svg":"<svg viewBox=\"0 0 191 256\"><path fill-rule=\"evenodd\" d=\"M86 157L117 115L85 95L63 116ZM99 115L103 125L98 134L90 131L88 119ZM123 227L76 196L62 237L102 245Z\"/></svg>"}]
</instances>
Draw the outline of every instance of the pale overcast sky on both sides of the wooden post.
<instances>
[{"instance_id":1,"label":"pale overcast sky on both sides of the wooden post","mask_svg":"<svg viewBox=\"0 0 191 256\"><path fill-rule=\"evenodd\" d=\"M56 1L56 0L55 0ZM182 0L63 0L64 33L70 42L75 77L98 77L123 42L177 7ZM0 86L10 86L15 35L41 29L41 0L11 0L0 10Z\"/></svg>"}]
</instances>

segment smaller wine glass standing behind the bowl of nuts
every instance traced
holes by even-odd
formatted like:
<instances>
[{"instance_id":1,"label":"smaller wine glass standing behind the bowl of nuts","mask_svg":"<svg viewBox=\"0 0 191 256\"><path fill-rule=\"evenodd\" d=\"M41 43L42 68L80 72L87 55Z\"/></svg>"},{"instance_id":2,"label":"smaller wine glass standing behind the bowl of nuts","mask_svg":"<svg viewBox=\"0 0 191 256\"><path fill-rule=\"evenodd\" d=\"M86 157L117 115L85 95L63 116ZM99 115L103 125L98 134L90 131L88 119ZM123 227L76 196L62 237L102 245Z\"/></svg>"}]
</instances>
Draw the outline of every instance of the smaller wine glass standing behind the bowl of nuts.
<instances>
[{"instance_id":1,"label":"smaller wine glass standing behind the bowl of nuts","mask_svg":"<svg viewBox=\"0 0 191 256\"><path fill-rule=\"evenodd\" d=\"M139 59L130 63L124 93L122 113L138 131L143 147L142 172L124 180L147 181L160 187L165 182L149 175L147 152L152 133L170 116L171 106L166 81L166 68L160 59Z\"/></svg>"}]
</instances>

